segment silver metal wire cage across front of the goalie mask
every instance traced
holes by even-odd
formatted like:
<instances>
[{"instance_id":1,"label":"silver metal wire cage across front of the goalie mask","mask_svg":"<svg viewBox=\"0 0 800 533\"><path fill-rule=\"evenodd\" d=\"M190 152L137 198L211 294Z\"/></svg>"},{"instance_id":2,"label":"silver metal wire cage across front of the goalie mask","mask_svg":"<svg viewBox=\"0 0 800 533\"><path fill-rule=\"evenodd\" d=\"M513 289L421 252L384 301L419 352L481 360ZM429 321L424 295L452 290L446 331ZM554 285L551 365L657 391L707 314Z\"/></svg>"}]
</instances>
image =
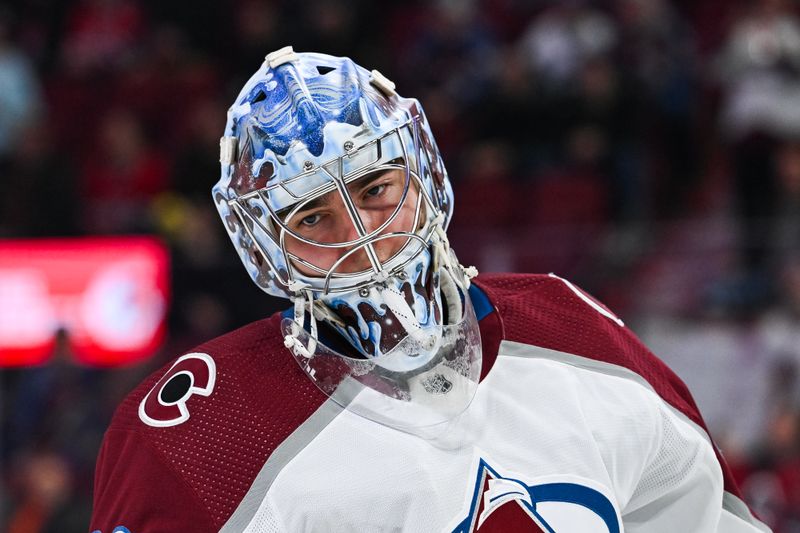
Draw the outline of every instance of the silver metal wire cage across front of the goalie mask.
<instances>
[{"instance_id":1,"label":"silver metal wire cage across front of the goalie mask","mask_svg":"<svg viewBox=\"0 0 800 533\"><path fill-rule=\"evenodd\" d=\"M287 287L299 286L325 295L343 293L370 285L386 277L400 275L409 262L429 248L434 225L441 225L436 215L441 212L430 186L420 178L421 158L426 158L418 142L418 120L412 119L389 133L345 155L319 166L307 165L306 171L286 180L228 200L232 214L245 235L252 240L257 253L276 272L277 280ZM423 168L425 168L423 165ZM353 189L378 173L394 173L393 181L377 180L379 186L391 186L396 201L391 209L383 206L379 223L368 224ZM402 179L397 179L402 176ZM395 227L401 213L413 205L413 220ZM328 200L338 203L340 214L346 213L351 229L357 234L349 240L312 238L300 233L293 222L302 218L307 206ZM300 215L298 215L300 213ZM441 218L441 217L440 217ZM263 246L262 243L269 246ZM331 265L320 265L313 257L293 253L292 245L302 244L309 256L331 255L338 258ZM381 257L376 246L391 248L390 257ZM275 251L279 258L275 260ZM362 255L368 268L348 269L348 260ZM279 267L277 265L280 265Z\"/></svg>"}]
</instances>

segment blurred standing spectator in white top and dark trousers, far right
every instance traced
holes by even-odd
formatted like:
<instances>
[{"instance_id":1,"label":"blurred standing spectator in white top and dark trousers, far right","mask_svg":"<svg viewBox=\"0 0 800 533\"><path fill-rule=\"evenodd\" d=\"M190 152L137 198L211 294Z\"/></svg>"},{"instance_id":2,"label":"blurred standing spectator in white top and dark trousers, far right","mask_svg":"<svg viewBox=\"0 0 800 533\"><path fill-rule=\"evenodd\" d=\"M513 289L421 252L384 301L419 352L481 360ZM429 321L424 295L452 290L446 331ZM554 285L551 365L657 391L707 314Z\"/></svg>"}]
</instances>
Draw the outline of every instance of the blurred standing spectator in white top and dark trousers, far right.
<instances>
[{"instance_id":1,"label":"blurred standing spectator in white top and dark trousers, far right","mask_svg":"<svg viewBox=\"0 0 800 533\"><path fill-rule=\"evenodd\" d=\"M728 300L752 310L775 287L770 242L779 197L776 154L800 136L800 18L784 0L748 4L719 57L721 125L733 169L740 223L740 272Z\"/></svg>"}]
</instances>

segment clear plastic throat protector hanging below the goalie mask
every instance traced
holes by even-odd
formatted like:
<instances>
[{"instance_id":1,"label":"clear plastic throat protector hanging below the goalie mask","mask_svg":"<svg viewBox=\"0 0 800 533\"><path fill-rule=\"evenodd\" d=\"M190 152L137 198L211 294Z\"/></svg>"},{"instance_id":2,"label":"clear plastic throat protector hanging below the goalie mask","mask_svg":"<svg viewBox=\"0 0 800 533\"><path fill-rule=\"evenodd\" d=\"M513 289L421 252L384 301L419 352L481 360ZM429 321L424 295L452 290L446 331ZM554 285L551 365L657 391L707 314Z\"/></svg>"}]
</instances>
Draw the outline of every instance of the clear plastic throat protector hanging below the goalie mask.
<instances>
[{"instance_id":1,"label":"clear plastic throat protector hanging below the goalie mask","mask_svg":"<svg viewBox=\"0 0 800 533\"><path fill-rule=\"evenodd\" d=\"M283 332L296 342L290 351L300 367L339 406L401 431L433 437L467 409L481 373L480 330L469 292L452 280L449 284L447 323L408 335L378 357L328 346L297 318L285 318Z\"/></svg>"}]
</instances>

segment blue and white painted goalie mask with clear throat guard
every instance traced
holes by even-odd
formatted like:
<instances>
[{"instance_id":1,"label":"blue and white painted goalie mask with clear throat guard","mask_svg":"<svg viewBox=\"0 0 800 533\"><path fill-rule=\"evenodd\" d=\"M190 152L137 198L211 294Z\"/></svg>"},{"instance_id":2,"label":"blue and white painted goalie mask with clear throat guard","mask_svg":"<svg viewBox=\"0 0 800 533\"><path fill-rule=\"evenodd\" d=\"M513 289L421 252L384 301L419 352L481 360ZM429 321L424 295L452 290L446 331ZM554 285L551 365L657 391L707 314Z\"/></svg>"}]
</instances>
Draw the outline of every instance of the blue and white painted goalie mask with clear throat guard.
<instances>
[{"instance_id":1,"label":"blue and white painted goalie mask with clear throat guard","mask_svg":"<svg viewBox=\"0 0 800 533\"><path fill-rule=\"evenodd\" d=\"M250 277L294 301L287 347L326 394L401 429L469 404L480 336L422 108L347 58L269 54L228 111L213 196Z\"/></svg>"}]
</instances>

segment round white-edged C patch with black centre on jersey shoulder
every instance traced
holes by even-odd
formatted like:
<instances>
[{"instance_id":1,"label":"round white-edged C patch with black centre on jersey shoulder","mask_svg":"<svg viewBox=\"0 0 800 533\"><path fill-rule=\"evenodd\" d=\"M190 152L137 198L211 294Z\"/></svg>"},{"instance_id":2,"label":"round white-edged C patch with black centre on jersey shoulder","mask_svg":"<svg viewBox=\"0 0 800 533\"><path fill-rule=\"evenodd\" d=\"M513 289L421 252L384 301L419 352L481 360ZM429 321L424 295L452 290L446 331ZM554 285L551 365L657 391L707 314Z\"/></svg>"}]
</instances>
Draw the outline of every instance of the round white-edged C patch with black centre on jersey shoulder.
<instances>
[{"instance_id":1,"label":"round white-edged C patch with black centre on jersey shoulder","mask_svg":"<svg viewBox=\"0 0 800 533\"><path fill-rule=\"evenodd\" d=\"M217 367L210 355L181 356L139 404L139 418L154 427L186 422L189 419L187 402L195 394L211 395L216 377Z\"/></svg>"}]
</instances>

